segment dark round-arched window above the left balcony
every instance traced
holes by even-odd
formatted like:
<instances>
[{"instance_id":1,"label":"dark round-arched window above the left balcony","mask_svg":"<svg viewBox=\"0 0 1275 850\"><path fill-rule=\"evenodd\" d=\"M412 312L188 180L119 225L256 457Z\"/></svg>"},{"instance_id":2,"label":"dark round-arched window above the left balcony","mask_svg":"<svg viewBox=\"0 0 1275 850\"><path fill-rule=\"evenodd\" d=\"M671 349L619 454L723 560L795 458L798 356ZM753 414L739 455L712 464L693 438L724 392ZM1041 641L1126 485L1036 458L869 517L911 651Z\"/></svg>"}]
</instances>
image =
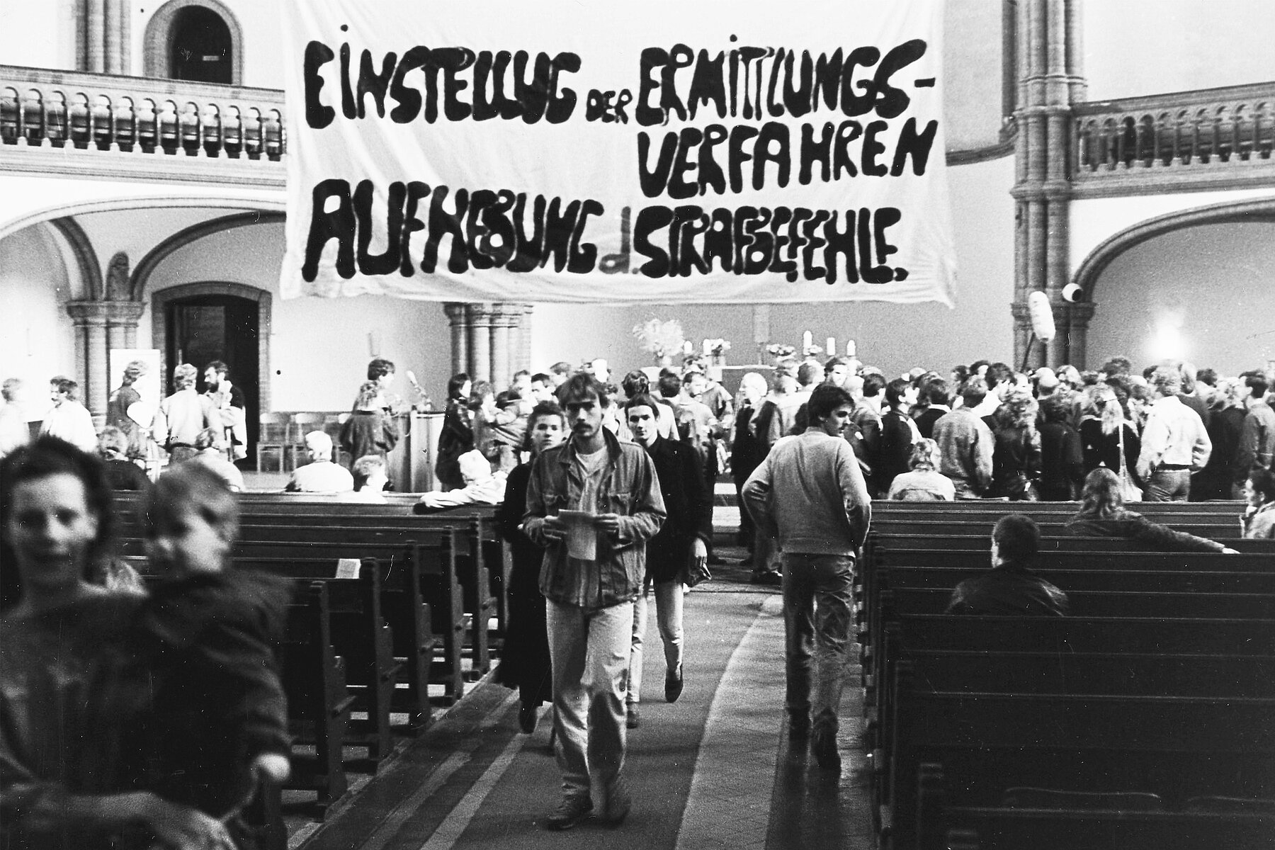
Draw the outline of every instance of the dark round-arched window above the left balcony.
<instances>
[{"instance_id":1,"label":"dark round-arched window above the left balcony","mask_svg":"<svg viewBox=\"0 0 1275 850\"><path fill-rule=\"evenodd\" d=\"M168 0L147 22L145 75L244 84L244 33L219 0Z\"/></svg>"}]
</instances>

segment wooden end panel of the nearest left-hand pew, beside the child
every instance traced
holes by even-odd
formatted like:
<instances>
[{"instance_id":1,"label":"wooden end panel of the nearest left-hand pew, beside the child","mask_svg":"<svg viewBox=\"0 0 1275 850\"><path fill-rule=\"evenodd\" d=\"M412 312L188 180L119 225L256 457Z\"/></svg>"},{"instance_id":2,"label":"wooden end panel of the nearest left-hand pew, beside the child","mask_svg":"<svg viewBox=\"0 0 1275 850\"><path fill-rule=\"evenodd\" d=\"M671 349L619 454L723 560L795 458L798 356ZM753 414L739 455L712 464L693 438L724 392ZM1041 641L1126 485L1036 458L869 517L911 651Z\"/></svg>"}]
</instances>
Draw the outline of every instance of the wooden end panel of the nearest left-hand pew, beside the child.
<instances>
[{"instance_id":1,"label":"wooden end panel of the nearest left-hand pew, beside the child","mask_svg":"<svg viewBox=\"0 0 1275 850\"><path fill-rule=\"evenodd\" d=\"M292 731L315 746L312 758L293 756L292 776L284 786L316 791L323 819L348 789L342 747L354 702L346 688L344 659L333 649L325 582L306 584L288 607L280 663Z\"/></svg>"}]
</instances>

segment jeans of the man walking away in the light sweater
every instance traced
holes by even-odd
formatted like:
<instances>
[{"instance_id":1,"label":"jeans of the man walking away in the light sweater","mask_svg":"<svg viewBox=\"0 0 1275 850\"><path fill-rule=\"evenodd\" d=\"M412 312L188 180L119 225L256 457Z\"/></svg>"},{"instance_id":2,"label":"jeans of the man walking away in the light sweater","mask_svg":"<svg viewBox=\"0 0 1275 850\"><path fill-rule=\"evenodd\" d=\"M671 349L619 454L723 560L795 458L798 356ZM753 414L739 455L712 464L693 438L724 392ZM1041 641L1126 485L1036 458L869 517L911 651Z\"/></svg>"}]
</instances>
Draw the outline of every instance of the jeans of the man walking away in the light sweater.
<instances>
[{"instance_id":1,"label":"jeans of the man walking away in the light sweater","mask_svg":"<svg viewBox=\"0 0 1275 850\"><path fill-rule=\"evenodd\" d=\"M854 558L840 554L783 554L788 717L836 733L850 641ZM816 674L812 687L811 673Z\"/></svg>"}]
</instances>

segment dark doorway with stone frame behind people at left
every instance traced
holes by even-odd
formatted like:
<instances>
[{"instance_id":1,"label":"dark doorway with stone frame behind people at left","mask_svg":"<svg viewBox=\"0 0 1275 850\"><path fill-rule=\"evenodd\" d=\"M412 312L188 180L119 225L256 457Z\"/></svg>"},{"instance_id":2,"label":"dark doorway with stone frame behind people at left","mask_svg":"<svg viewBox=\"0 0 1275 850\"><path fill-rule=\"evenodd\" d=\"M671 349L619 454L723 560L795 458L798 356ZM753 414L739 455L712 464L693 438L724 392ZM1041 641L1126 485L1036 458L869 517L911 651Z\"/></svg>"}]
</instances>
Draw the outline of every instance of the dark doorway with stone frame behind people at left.
<instances>
[{"instance_id":1,"label":"dark doorway with stone frame behind people at left","mask_svg":"<svg viewBox=\"0 0 1275 850\"><path fill-rule=\"evenodd\" d=\"M212 361L227 364L229 378L244 391L247 456L256 456L261 410L269 410L270 293L237 283L193 283L152 296L152 339L161 349L164 391L172 393L172 370L190 363L204 370Z\"/></svg>"}]
</instances>

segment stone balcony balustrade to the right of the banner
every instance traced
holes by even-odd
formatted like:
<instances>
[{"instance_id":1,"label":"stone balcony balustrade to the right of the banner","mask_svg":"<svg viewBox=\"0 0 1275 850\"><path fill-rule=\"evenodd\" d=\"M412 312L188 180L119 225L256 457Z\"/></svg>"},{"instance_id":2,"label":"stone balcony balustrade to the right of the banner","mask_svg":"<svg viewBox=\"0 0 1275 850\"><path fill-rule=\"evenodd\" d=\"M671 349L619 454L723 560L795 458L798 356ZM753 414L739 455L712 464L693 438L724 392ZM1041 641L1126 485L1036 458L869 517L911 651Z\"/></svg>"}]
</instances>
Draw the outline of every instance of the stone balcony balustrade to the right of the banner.
<instances>
[{"instance_id":1,"label":"stone balcony balustrade to the right of the banner","mask_svg":"<svg viewBox=\"0 0 1275 850\"><path fill-rule=\"evenodd\" d=\"M1202 187L1202 172L1223 178L1272 164L1275 83L1079 103L1072 115L1077 184L1150 172L1169 184L1190 171Z\"/></svg>"}]
</instances>

